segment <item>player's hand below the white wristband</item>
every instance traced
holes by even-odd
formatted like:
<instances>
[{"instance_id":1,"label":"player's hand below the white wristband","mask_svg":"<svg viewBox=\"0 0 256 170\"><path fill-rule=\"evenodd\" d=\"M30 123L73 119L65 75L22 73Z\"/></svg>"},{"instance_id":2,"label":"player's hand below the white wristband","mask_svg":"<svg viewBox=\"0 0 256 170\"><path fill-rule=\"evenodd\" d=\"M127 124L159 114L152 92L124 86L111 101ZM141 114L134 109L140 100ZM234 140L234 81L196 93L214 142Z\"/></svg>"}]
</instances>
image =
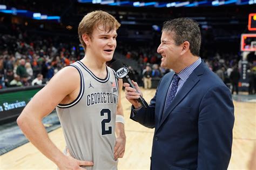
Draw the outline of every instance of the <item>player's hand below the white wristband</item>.
<instances>
[{"instance_id":1,"label":"player's hand below the white wristband","mask_svg":"<svg viewBox=\"0 0 256 170\"><path fill-rule=\"evenodd\" d=\"M119 136L114 146L114 160L124 157L126 138Z\"/></svg>"}]
</instances>

